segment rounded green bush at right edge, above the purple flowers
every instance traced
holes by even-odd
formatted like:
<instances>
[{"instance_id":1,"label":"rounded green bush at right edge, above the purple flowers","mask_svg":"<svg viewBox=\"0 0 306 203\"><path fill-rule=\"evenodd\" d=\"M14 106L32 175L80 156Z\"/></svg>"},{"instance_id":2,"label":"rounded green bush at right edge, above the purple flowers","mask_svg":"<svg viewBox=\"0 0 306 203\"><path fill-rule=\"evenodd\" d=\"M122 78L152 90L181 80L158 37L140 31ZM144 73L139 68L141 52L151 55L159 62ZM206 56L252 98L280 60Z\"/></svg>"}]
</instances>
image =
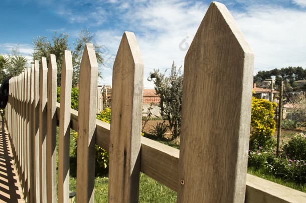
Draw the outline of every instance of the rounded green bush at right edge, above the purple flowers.
<instances>
[{"instance_id":1,"label":"rounded green bush at right edge, above the purple flowers","mask_svg":"<svg viewBox=\"0 0 306 203\"><path fill-rule=\"evenodd\" d=\"M297 160L306 160L306 135L297 134L284 144L283 150L291 158Z\"/></svg>"}]
</instances>

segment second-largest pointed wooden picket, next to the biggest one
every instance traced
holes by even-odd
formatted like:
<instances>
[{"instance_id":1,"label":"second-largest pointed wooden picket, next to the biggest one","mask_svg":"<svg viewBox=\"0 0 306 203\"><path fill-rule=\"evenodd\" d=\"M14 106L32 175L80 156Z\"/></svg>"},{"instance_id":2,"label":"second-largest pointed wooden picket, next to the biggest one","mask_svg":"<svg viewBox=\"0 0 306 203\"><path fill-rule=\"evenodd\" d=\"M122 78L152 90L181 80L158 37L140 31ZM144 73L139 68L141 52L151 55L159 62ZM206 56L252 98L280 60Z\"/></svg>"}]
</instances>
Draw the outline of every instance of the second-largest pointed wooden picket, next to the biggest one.
<instances>
[{"instance_id":1,"label":"second-largest pointed wooden picket, next to the biggest one","mask_svg":"<svg viewBox=\"0 0 306 203\"><path fill-rule=\"evenodd\" d=\"M113 66L108 202L138 202L143 61L125 32Z\"/></svg>"}]
</instances>

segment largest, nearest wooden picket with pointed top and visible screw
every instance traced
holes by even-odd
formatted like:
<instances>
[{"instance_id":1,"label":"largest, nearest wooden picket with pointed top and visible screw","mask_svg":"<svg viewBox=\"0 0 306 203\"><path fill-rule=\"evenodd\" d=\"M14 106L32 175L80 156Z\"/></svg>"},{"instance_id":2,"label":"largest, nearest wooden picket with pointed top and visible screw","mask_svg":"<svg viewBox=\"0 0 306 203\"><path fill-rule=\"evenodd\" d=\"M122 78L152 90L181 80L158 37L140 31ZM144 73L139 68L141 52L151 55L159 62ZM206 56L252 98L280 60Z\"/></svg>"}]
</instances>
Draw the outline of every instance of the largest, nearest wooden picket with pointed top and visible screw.
<instances>
[{"instance_id":1,"label":"largest, nearest wooden picket with pointed top and visible screw","mask_svg":"<svg viewBox=\"0 0 306 203\"><path fill-rule=\"evenodd\" d=\"M213 2L185 57L177 202L244 201L253 59Z\"/></svg>"}]
</instances>

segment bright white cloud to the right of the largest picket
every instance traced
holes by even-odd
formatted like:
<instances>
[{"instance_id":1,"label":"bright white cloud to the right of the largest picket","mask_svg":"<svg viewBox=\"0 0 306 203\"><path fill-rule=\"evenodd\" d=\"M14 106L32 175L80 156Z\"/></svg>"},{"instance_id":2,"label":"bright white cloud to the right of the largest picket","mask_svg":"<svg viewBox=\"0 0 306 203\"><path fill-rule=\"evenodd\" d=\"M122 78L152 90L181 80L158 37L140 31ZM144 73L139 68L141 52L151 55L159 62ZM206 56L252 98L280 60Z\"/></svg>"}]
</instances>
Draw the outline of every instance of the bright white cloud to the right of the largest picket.
<instances>
[{"instance_id":1,"label":"bright white cloud to the right of the largest picket","mask_svg":"<svg viewBox=\"0 0 306 203\"><path fill-rule=\"evenodd\" d=\"M254 73L288 66L306 68L306 13L258 7L236 14L237 24L255 53ZM235 14L234 14L235 17Z\"/></svg>"}]
</instances>

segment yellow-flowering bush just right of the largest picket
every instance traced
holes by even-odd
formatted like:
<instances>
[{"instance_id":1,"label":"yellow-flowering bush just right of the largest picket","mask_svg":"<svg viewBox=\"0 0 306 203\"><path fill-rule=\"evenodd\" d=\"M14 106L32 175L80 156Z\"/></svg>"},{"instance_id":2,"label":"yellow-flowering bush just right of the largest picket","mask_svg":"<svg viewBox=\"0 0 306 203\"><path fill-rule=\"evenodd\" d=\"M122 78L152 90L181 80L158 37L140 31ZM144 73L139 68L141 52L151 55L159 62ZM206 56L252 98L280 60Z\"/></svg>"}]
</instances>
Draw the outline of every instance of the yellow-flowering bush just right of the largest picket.
<instances>
[{"instance_id":1,"label":"yellow-flowering bush just right of the largest picket","mask_svg":"<svg viewBox=\"0 0 306 203\"><path fill-rule=\"evenodd\" d=\"M252 98L251 113L251 134L250 145L251 150L263 147L269 149L275 144L272 135L275 132L276 122L274 121L274 109L277 104L269 102L265 99Z\"/></svg>"}]
</instances>

